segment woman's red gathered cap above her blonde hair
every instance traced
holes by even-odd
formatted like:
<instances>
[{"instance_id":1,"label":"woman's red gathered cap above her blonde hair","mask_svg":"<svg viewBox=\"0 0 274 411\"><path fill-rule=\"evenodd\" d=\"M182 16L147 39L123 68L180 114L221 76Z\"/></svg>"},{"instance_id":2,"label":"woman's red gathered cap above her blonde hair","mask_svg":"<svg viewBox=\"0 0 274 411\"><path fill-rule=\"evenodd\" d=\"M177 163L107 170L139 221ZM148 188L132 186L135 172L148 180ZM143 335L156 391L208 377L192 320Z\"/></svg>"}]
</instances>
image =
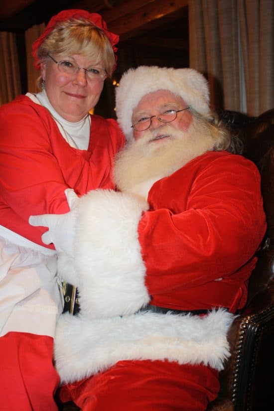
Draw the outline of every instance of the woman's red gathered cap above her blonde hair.
<instances>
[{"instance_id":1,"label":"woman's red gathered cap above her blonde hair","mask_svg":"<svg viewBox=\"0 0 274 411\"><path fill-rule=\"evenodd\" d=\"M54 29L56 24L67 21L72 18L85 18L90 22L94 23L97 27L101 28L102 31L106 34L110 43L112 45L113 51L117 51L117 47L115 44L119 41L119 35L114 34L108 30L106 22L103 20L102 16L98 13L89 13L87 10L79 10L79 9L69 9L60 11L55 16L51 17L50 21L48 22L44 32L41 34L40 37L37 38L36 41L32 44L32 56L34 58L34 65L38 70L40 68L40 64L38 63L37 51L44 39L51 33Z\"/></svg>"}]
</instances>

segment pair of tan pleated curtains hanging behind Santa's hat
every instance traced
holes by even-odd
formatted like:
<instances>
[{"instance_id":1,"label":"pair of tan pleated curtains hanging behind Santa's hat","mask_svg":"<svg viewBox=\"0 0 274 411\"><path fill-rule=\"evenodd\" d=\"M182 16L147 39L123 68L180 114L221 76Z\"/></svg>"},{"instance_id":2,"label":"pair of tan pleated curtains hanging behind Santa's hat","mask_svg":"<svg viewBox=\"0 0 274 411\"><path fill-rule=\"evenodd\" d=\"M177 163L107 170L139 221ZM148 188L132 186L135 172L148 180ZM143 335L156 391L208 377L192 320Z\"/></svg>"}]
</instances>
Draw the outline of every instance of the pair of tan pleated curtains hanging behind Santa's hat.
<instances>
[{"instance_id":1,"label":"pair of tan pleated curtains hanging behind Santa's hat","mask_svg":"<svg viewBox=\"0 0 274 411\"><path fill-rule=\"evenodd\" d=\"M273 21L273 0L189 0L190 67L208 78L212 110L274 108Z\"/></svg>"}]
</instances>

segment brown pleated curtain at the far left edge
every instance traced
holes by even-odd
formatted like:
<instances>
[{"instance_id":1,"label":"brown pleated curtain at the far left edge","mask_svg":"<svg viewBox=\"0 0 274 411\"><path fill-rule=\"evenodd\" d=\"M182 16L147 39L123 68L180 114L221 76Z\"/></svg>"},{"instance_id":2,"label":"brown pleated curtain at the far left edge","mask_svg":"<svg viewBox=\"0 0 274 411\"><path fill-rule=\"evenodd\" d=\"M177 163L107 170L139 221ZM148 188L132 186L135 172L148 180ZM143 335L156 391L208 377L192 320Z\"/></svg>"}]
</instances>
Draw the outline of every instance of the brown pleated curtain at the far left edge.
<instances>
[{"instance_id":1,"label":"brown pleated curtain at the far left edge","mask_svg":"<svg viewBox=\"0 0 274 411\"><path fill-rule=\"evenodd\" d=\"M0 105L21 93L15 33L0 31Z\"/></svg>"}]
</instances>

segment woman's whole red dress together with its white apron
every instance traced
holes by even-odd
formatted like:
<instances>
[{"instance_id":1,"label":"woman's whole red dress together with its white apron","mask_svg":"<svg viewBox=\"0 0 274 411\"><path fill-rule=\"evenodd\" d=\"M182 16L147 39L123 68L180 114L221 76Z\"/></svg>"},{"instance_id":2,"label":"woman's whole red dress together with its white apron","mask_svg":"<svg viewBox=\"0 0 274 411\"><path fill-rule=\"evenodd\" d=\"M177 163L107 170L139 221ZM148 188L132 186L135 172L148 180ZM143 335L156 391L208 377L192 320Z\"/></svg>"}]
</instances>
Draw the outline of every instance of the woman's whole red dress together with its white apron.
<instances>
[{"instance_id":1,"label":"woman's whole red dress together with its white apron","mask_svg":"<svg viewBox=\"0 0 274 411\"><path fill-rule=\"evenodd\" d=\"M52 245L41 242L45 229L30 226L29 216L67 212L66 188L73 188L78 195L98 187L113 188L112 161L124 145L124 137L115 120L91 116L88 149L73 148L62 137L48 110L27 96L1 106L0 130L0 242L8 240L8 229L44 249L54 250ZM27 265L21 257L16 265L18 254L22 256L20 247L13 255L1 254L4 263L0 276L0 331L2 327L7 330L0 338L0 352L4 353L0 367L4 393L1 410L54 411L57 406L53 394L59 384L52 364L57 311L53 289L60 299L56 261L50 250L52 260L44 264L43 270L52 273L48 282L51 288L41 291L43 273L39 278L35 264ZM32 252L37 255L35 250L26 251L25 255ZM32 304L33 295L40 291L46 299ZM18 313L23 321L18 319ZM35 327L38 323L39 333L33 325L34 316L38 317ZM45 317L50 327L45 327Z\"/></svg>"}]
</instances>

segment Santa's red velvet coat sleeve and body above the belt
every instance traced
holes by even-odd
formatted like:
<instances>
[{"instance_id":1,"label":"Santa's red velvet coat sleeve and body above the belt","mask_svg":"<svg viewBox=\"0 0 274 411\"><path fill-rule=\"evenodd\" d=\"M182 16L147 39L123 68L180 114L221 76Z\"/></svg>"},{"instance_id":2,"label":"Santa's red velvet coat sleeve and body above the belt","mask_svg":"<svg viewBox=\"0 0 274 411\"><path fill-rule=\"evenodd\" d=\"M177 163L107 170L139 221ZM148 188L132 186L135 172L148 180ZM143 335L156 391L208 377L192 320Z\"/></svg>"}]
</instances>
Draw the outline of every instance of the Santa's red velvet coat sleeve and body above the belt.
<instances>
[{"instance_id":1,"label":"Santa's red velvet coat sleeve and body above the belt","mask_svg":"<svg viewBox=\"0 0 274 411\"><path fill-rule=\"evenodd\" d=\"M255 164L208 152L157 181L148 202L138 234L151 303L183 310L243 307L266 231Z\"/></svg>"}]
</instances>

